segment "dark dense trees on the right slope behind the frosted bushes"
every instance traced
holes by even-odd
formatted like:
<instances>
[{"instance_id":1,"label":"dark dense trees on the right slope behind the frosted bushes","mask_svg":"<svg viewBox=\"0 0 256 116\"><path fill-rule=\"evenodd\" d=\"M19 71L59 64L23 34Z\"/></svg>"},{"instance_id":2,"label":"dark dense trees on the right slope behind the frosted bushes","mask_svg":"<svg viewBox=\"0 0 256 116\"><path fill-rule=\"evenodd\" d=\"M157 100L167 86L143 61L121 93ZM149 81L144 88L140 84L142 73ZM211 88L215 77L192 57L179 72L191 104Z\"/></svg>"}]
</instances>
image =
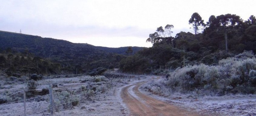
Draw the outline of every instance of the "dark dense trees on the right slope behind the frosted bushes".
<instances>
[{"instance_id":1,"label":"dark dense trees on the right slope behind the frosted bushes","mask_svg":"<svg viewBox=\"0 0 256 116\"><path fill-rule=\"evenodd\" d=\"M211 15L204 23L200 15L194 13L189 24L194 34L181 31L172 37L173 25L157 28L147 39L153 46L122 59L120 69L151 72L201 63L218 65L219 60L244 50L256 52L256 19L253 15L246 21L238 15Z\"/></svg>"}]
</instances>

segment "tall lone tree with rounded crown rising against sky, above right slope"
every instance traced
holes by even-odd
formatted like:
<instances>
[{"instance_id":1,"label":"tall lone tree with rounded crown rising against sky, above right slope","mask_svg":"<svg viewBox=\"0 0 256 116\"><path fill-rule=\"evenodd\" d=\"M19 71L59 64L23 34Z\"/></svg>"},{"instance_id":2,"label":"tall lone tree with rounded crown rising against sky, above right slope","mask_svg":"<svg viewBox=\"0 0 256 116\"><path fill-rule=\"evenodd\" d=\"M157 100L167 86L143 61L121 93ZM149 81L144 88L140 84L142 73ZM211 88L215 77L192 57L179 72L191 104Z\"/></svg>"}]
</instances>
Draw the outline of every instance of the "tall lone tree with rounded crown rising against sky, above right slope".
<instances>
[{"instance_id":1,"label":"tall lone tree with rounded crown rising against sky, above right slope","mask_svg":"<svg viewBox=\"0 0 256 116\"><path fill-rule=\"evenodd\" d=\"M195 38L196 38L197 33L204 26L204 20L202 20L201 16L197 12L195 12L195 13L193 13L193 15L191 16L191 18L189 19L188 22L189 22L189 24L192 24L192 28L193 28L193 31L195 33Z\"/></svg>"}]
</instances>

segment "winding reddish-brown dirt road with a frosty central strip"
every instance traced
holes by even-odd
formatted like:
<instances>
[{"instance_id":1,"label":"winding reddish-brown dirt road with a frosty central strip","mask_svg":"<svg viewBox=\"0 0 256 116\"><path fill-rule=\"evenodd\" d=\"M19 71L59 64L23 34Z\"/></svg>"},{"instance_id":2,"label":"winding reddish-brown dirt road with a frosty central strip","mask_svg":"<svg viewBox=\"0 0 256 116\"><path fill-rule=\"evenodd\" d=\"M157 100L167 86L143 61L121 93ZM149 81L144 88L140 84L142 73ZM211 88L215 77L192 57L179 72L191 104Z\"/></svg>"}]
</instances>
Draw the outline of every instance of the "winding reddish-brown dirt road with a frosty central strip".
<instances>
[{"instance_id":1,"label":"winding reddish-brown dirt road with a frosty central strip","mask_svg":"<svg viewBox=\"0 0 256 116\"><path fill-rule=\"evenodd\" d=\"M121 98L130 109L131 116L199 116L198 113L186 111L141 93L138 88L143 83L138 82L121 90Z\"/></svg>"}]
</instances>

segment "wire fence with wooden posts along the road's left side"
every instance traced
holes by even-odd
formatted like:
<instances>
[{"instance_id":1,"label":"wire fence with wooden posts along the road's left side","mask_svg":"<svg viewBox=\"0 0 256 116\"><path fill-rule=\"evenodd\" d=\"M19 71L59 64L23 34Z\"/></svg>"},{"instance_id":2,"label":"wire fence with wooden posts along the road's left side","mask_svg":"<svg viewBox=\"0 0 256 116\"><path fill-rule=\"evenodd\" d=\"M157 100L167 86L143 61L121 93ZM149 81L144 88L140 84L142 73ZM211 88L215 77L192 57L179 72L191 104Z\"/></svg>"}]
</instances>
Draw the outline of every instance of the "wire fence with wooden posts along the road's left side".
<instances>
[{"instance_id":1,"label":"wire fence with wooden posts along the road's left side","mask_svg":"<svg viewBox=\"0 0 256 116\"><path fill-rule=\"evenodd\" d=\"M23 91L15 92L9 96L2 97L8 98L12 96L15 97L16 94L19 94L19 96L23 94L23 100L0 104L0 109L3 107L10 107L10 109L15 109L15 111L9 110L5 111L5 114L0 114L1 116L34 116L45 113L54 114L55 111L70 109L73 106L76 106L78 103L83 103L96 92L97 94L102 94L107 91L106 89L111 89L120 82L140 80L141 78L145 77L146 76L127 75L122 78L108 78L108 81L87 81L81 84L71 84L61 87L53 87L52 85L48 85L49 87L47 88L33 90L27 90L24 87ZM47 93L38 97L26 98L31 92L42 91L43 89L48 89Z\"/></svg>"}]
</instances>

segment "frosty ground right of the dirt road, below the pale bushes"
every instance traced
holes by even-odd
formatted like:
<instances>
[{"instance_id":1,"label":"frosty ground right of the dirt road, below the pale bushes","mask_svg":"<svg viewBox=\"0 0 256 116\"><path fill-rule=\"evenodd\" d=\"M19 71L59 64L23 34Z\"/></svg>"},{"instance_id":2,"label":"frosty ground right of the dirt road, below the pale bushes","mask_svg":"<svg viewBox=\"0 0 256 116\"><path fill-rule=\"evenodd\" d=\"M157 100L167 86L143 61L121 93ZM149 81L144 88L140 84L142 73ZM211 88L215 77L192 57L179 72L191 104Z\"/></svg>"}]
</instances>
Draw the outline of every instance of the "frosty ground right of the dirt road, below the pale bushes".
<instances>
[{"instance_id":1,"label":"frosty ground right of the dirt road, below the pale bushes","mask_svg":"<svg viewBox=\"0 0 256 116\"><path fill-rule=\"evenodd\" d=\"M224 95L195 97L191 94L174 93L157 95L139 89L142 93L170 104L198 111L201 114L220 116L256 116L256 95Z\"/></svg>"}]
</instances>

